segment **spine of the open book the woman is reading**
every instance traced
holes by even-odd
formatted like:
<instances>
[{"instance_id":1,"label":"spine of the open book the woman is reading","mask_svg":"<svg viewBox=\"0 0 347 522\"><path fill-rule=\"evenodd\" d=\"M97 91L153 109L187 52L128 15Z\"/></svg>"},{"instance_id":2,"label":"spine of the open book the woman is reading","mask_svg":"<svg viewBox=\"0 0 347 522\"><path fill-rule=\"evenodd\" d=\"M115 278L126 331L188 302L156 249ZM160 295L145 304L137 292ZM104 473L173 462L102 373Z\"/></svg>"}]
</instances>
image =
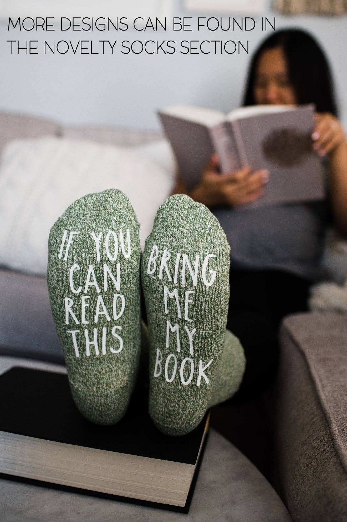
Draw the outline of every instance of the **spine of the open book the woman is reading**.
<instances>
[{"instance_id":1,"label":"spine of the open book the woman is reading","mask_svg":"<svg viewBox=\"0 0 347 522\"><path fill-rule=\"evenodd\" d=\"M221 172L240 169L238 147L230 122L222 122L209 129L215 152L218 154Z\"/></svg>"}]
</instances>

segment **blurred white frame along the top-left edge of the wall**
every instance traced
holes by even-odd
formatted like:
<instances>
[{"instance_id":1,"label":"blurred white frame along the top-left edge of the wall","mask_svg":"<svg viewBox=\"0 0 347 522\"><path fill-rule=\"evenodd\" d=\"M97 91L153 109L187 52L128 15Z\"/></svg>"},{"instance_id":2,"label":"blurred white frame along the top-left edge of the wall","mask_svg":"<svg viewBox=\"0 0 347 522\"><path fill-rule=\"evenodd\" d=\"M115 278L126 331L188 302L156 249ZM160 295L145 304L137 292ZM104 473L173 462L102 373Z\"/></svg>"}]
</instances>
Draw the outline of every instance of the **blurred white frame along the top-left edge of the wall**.
<instances>
[{"instance_id":1,"label":"blurred white frame along the top-left edge of the wall","mask_svg":"<svg viewBox=\"0 0 347 522\"><path fill-rule=\"evenodd\" d=\"M132 20L173 16L173 0L0 0L0 19L35 17L109 17Z\"/></svg>"}]
</instances>

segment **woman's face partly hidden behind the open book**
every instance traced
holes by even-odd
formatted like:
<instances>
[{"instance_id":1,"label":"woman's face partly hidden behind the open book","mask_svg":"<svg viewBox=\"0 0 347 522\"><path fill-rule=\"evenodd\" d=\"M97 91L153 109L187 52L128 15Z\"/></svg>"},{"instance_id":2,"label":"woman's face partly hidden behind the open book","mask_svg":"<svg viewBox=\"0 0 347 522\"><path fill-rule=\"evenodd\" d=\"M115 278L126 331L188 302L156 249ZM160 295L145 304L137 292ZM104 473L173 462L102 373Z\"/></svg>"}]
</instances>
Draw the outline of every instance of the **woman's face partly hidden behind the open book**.
<instances>
[{"instance_id":1,"label":"woman's face partly hidden behind the open book","mask_svg":"<svg viewBox=\"0 0 347 522\"><path fill-rule=\"evenodd\" d=\"M258 59L254 81L254 100L264 105L296 105L289 80L288 64L281 47L264 51Z\"/></svg>"}]
</instances>

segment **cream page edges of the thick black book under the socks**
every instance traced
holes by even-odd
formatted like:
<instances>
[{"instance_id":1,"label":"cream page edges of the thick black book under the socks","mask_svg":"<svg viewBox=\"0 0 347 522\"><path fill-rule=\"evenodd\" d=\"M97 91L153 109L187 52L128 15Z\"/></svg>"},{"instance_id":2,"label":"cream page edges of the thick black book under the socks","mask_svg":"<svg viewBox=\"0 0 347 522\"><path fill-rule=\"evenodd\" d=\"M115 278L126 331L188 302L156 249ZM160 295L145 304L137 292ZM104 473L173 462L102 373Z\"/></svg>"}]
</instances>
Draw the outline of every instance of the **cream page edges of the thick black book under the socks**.
<instances>
[{"instance_id":1,"label":"cream page edges of the thick black book under the socks","mask_svg":"<svg viewBox=\"0 0 347 522\"><path fill-rule=\"evenodd\" d=\"M195 466L0 431L2 473L144 501L184 507Z\"/></svg>"}]
</instances>

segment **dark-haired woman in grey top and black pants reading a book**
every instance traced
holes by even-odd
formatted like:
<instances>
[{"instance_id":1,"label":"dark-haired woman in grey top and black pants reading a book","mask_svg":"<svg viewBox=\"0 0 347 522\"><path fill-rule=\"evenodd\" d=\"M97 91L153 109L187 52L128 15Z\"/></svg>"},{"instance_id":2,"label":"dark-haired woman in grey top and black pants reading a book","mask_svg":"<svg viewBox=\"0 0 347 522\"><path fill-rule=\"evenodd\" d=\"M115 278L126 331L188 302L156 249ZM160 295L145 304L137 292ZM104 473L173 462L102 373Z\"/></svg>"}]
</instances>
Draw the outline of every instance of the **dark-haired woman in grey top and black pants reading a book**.
<instances>
[{"instance_id":1,"label":"dark-haired woman in grey top and black pants reading a book","mask_svg":"<svg viewBox=\"0 0 347 522\"><path fill-rule=\"evenodd\" d=\"M266 39L252 58L244 105L316 106L314 151L328 168L329 201L259 209L239 207L264 193L271 172L251 166L220 174L213 155L199 185L187 192L209 207L230 247L228 328L244 347L247 366L239 398L257 395L274 376L281 319L307 309L308 289L321 276L324 232L331 215L347 232L347 142L337 119L329 66L317 42L301 30Z\"/></svg>"}]
</instances>

